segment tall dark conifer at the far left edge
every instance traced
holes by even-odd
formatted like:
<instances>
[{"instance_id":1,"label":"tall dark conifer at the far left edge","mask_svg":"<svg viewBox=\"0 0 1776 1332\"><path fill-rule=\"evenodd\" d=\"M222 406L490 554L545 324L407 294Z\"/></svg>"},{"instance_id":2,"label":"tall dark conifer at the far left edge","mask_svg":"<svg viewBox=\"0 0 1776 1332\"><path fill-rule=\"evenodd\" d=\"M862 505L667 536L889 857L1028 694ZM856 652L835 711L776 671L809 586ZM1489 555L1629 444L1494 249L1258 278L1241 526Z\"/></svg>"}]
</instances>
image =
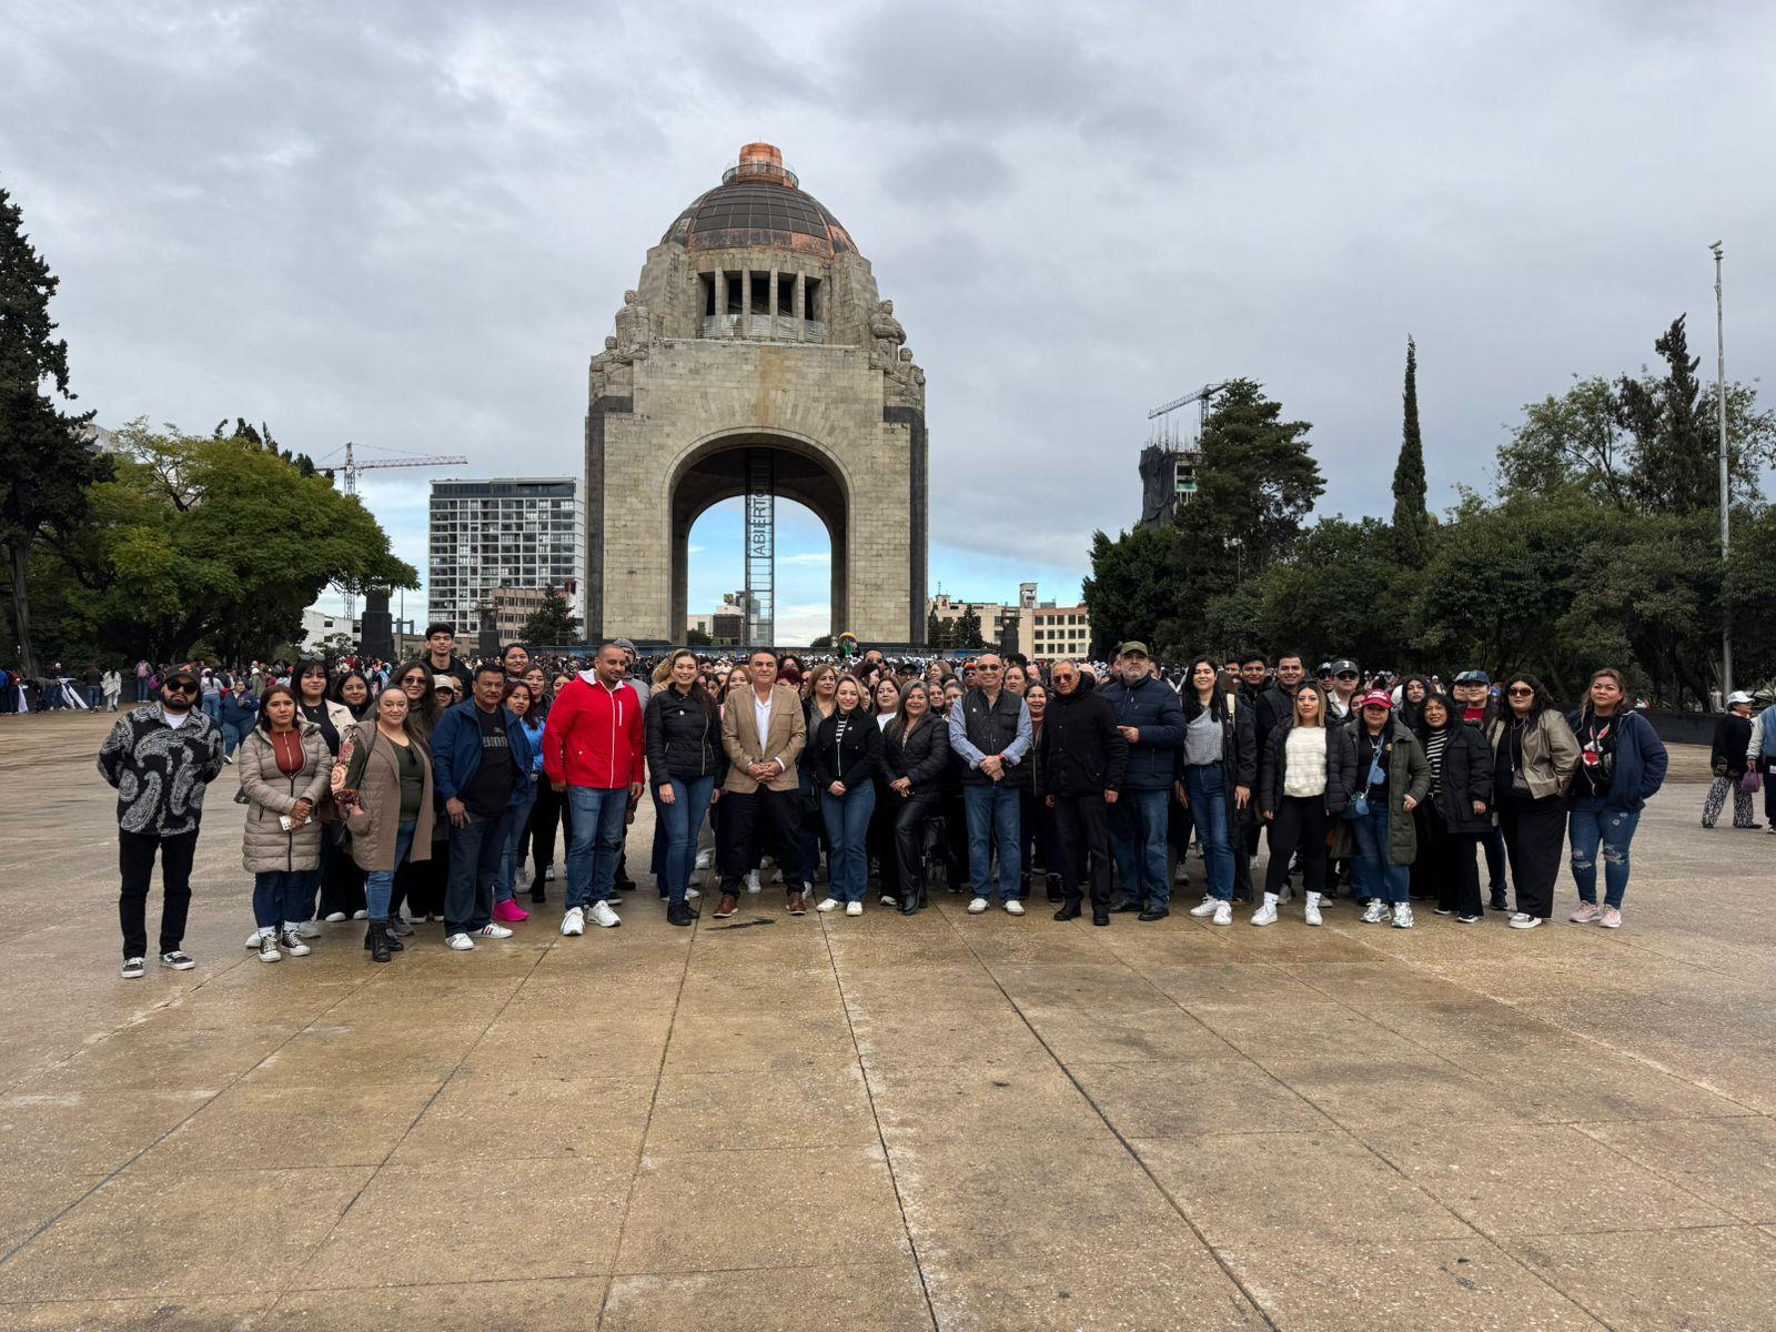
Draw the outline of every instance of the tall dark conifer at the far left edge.
<instances>
[{"instance_id":1,"label":"tall dark conifer at the far left edge","mask_svg":"<svg viewBox=\"0 0 1776 1332\"><path fill-rule=\"evenodd\" d=\"M25 215L0 190L0 542L7 551L12 634L27 675L37 673L30 625L32 549L80 522L87 488L108 460L85 439L91 412L62 412L67 341L55 336L50 298L59 279L25 234Z\"/></svg>"}]
</instances>

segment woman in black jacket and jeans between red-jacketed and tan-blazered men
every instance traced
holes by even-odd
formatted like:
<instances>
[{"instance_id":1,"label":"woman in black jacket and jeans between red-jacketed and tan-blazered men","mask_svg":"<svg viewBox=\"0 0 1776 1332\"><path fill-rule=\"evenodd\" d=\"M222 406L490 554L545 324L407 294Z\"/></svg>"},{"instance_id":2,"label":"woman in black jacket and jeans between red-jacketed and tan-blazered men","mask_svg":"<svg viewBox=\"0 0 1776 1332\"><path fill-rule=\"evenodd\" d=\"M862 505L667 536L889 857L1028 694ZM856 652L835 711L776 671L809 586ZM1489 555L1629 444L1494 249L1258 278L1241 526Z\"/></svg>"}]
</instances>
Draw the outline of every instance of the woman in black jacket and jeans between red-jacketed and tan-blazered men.
<instances>
[{"instance_id":1,"label":"woman in black jacket and jeans between red-jacketed and tan-blazered men","mask_svg":"<svg viewBox=\"0 0 1776 1332\"><path fill-rule=\"evenodd\" d=\"M696 654L680 648L666 661L670 675L648 700L643 735L648 783L666 828L666 922L684 927L696 918L689 902L696 835L716 801L726 760L721 753L721 712L698 682Z\"/></svg>"}]
</instances>

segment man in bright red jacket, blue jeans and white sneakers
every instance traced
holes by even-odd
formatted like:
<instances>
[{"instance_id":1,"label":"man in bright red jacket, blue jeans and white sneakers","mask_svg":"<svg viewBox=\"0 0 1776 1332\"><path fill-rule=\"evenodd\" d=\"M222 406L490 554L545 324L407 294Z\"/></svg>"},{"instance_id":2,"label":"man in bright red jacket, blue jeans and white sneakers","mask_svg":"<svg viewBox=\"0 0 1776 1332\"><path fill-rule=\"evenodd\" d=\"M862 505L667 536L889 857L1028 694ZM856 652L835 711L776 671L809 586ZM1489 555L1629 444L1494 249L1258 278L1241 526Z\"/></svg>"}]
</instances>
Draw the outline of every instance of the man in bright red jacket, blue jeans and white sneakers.
<instances>
[{"instance_id":1,"label":"man in bright red jacket, blue jeans and white sneakers","mask_svg":"<svg viewBox=\"0 0 1776 1332\"><path fill-rule=\"evenodd\" d=\"M641 696L623 680L623 650L606 643L593 668L556 694L543 726L543 773L549 785L567 792L574 812L561 916L561 932L570 936L586 932L588 915L606 929L623 924L611 909L611 884L646 753Z\"/></svg>"}]
</instances>

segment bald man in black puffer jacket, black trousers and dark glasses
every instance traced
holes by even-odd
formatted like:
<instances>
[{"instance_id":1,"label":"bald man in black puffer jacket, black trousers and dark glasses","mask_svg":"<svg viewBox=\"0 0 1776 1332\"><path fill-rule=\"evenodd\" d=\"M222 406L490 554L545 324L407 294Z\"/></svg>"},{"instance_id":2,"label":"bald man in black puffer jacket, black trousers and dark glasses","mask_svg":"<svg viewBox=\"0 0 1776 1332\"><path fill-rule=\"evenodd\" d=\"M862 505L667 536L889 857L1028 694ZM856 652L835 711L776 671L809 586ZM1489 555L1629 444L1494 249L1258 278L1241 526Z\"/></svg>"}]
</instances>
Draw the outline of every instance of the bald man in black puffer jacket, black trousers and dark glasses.
<instances>
[{"instance_id":1,"label":"bald man in black puffer jacket, black trousers and dark glasses","mask_svg":"<svg viewBox=\"0 0 1776 1332\"><path fill-rule=\"evenodd\" d=\"M1128 741L1115 725L1110 700L1098 693L1090 671L1076 662L1055 662L1055 696L1043 718L1043 789L1037 797L1055 812L1060 847L1060 888L1066 902L1055 920L1080 915L1080 883L1087 856L1092 876L1092 924L1110 924L1110 828L1128 769ZM1162 686L1165 687L1165 686Z\"/></svg>"}]
</instances>

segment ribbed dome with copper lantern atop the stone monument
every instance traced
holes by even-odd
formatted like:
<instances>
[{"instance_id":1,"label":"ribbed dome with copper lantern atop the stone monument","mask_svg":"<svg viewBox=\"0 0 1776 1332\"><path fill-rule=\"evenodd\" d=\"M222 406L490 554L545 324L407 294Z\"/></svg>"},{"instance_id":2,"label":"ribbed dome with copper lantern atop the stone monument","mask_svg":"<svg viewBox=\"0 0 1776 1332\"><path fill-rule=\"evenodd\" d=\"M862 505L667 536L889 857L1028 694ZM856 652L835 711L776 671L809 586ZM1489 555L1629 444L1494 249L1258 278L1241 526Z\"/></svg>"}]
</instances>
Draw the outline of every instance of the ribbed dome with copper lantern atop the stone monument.
<instances>
[{"instance_id":1,"label":"ribbed dome with copper lantern atop the stone monument","mask_svg":"<svg viewBox=\"0 0 1776 1332\"><path fill-rule=\"evenodd\" d=\"M771 144L742 147L721 185L686 208L661 243L687 250L776 247L822 259L858 249L838 218L803 194L796 172Z\"/></svg>"}]
</instances>

